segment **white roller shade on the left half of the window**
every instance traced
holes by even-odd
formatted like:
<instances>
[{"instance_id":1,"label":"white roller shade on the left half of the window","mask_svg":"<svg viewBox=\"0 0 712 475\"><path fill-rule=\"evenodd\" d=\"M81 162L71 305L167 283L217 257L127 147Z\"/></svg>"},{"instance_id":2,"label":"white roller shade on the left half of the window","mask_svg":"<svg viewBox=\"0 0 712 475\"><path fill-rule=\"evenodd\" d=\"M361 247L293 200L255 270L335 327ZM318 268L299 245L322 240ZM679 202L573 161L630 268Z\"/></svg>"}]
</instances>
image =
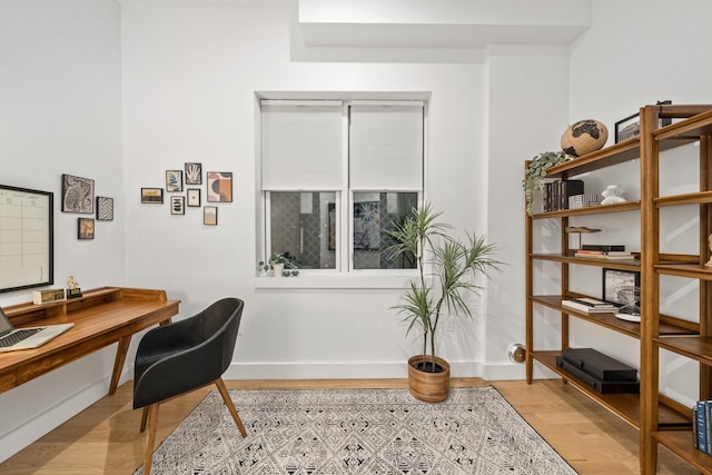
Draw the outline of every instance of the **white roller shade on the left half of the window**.
<instances>
[{"instance_id":1,"label":"white roller shade on the left half of the window","mask_svg":"<svg viewBox=\"0 0 712 475\"><path fill-rule=\"evenodd\" d=\"M265 190L342 188L342 102L263 101Z\"/></svg>"}]
</instances>

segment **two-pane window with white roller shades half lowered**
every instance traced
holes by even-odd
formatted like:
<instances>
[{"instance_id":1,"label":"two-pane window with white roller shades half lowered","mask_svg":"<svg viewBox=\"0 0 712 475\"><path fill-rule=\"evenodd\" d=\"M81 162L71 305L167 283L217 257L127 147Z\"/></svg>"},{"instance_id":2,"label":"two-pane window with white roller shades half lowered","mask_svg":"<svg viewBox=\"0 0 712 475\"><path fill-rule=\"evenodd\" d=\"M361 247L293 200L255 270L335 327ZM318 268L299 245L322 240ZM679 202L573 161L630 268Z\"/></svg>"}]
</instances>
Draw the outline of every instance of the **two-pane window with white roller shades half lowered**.
<instances>
[{"instance_id":1,"label":"two-pane window with white roller shades half lowered","mask_svg":"<svg viewBox=\"0 0 712 475\"><path fill-rule=\"evenodd\" d=\"M415 267L386 250L423 200L422 101L263 100L260 121L266 257L288 251L307 271Z\"/></svg>"}]
</instances>

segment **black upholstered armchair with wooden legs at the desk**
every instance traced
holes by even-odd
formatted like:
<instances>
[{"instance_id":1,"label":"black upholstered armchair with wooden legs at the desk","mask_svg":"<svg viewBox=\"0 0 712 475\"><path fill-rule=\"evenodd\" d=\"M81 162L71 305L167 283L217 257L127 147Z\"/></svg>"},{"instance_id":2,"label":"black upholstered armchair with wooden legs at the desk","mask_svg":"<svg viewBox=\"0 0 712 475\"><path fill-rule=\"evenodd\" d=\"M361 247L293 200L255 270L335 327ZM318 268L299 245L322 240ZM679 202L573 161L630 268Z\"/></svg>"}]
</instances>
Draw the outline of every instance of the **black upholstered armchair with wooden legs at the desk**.
<instances>
[{"instance_id":1,"label":"black upholstered armchair with wooden legs at the desk","mask_svg":"<svg viewBox=\"0 0 712 475\"><path fill-rule=\"evenodd\" d=\"M233 360L245 303L224 298L199 314L149 330L139 343L134 368L134 408L144 408L144 473L149 474L160 403L215 383L243 437L247 436L222 374Z\"/></svg>"}]
</instances>

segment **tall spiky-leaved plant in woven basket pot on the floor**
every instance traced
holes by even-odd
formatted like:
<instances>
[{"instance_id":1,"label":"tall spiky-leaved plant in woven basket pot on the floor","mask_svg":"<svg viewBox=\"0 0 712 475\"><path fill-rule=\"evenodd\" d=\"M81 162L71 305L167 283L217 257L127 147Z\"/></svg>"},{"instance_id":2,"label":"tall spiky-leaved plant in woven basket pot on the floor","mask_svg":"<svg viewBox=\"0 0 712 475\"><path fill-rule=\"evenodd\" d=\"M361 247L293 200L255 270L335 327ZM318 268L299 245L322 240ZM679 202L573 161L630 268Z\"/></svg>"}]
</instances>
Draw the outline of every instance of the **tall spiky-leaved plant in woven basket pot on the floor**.
<instances>
[{"instance_id":1,"label":"tall spiky-leaved plant in woven basket pot on the floor","mask_svg":"<svg viewBox=\"0 0 712 475\"><path fill-rule=\"evenodd\" d=\"M408 359L408 388L421 400L445 400L449 394L449 364L436 355L438 325L444 315L471 317L466 296L477 294L477 277L486 276L498 261L491 258L495 247L484 236L452 236L452 226L439 220L442 211L429 204L414 208L407 219L386 232L394 245L392 257L408 254L417 260L418 276L393 308L403 315L406 334L418 328L423 350Z\"/></svg>"}]
</instances>

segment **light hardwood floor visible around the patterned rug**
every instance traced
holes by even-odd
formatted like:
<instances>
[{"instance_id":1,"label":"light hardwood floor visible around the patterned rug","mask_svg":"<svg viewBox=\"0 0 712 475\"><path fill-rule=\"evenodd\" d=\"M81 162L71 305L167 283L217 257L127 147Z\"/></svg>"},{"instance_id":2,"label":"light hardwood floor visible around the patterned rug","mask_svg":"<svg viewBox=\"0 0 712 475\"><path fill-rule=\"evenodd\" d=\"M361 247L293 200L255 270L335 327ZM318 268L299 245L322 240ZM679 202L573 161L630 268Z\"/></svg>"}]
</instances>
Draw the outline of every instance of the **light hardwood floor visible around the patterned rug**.
<instances>
[{"instance_id":1,"label":"light hardwood floor visible around the patterned rug","mask_svg":"<svg viewBox=\"0 0 712 475\"><path fill-rule=\"evenodd\" d=\"M407 387L405 379L227 380L230 389L306 389ZM453 386L492 384L518 413L580 474L637 474L637 431L560 380L485 382L456 378ZM205 394L215 388L162 404L157 446ZM131 408L132 386L127 383L0 464L3 475L71 474L126 475L142 462L141 412ZM240 409L239 407L237 408ZM249 435L248 435L249 436ZM659 474L698 474L665 449L660 449ZM206 474L207 475L207 474Z\"/></svg>"}]
</instances>

